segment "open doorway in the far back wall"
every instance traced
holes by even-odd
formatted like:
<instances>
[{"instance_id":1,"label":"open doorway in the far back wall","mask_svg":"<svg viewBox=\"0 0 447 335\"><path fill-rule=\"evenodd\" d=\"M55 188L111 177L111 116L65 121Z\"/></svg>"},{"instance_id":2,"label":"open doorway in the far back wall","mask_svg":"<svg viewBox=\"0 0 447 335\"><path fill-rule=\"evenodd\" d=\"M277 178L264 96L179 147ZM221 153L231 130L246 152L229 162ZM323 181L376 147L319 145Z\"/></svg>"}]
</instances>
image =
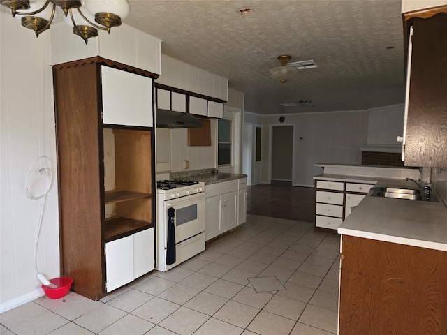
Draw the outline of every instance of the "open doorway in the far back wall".
<instances>
[{"instance_id":1,"label":"open doorway in the far back wall","mask_svg":"<svg viewBox=\"0 0 447 335\"><path fill-rule=\"evenodd\" d=\"M271 126L270 181L288 181L293 185L293 125Z\"/></svg>"}]
</instances>

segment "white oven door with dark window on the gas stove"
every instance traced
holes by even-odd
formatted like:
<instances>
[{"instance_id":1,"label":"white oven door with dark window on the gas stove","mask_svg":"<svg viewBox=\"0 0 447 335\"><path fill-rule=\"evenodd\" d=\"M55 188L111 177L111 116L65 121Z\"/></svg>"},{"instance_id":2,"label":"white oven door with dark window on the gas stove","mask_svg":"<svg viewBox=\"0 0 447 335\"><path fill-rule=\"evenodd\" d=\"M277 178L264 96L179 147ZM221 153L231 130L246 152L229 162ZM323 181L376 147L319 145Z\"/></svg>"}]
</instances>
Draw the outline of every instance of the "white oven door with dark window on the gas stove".
<instances>
[{"instance_id":1,"label":"white oven door with dark window on the gas stove","mask_svg":"<svg viewBox=\"0 0 447 335\"><path fill-rule=\"evenodd\" d=\"M175 209L175 244L205 232L205 193L187 195L183 198L164 202L166 223L163 224L164 236L168 236L168 209ZM168 246L164 240L165 248Z\"/></svg>"}]
</instances>

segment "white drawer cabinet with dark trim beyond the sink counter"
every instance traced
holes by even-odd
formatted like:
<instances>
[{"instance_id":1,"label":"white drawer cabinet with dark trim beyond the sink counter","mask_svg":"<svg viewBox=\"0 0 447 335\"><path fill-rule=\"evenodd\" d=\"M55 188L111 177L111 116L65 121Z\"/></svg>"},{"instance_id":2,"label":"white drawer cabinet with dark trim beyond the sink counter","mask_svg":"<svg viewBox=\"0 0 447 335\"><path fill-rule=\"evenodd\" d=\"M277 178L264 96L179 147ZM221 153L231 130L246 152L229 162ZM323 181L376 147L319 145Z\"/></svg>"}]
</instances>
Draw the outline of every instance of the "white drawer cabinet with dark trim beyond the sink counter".
<instances>
[{"instance_id":1,"label":"white drawer cabinet with dark trim beyond the sink counter","mask_svg":"<svg viewBox=\"0 0 447 335\"><path fill-rule=\"evenodd\" d=\"M349 180L315 182L315 228L336 232L374 184L351 183Z\"/></svg>"}]
</instances>

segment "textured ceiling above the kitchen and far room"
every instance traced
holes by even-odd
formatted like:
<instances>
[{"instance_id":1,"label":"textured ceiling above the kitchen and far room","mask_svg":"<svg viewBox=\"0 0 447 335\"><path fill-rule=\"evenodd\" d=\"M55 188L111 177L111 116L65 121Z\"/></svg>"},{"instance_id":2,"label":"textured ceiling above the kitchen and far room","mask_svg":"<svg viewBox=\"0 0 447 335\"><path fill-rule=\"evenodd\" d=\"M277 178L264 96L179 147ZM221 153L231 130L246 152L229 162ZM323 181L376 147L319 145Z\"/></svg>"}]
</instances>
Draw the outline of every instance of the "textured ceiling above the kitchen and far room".
<instances>
[{"instance_id":1,"label":"textured ceiling above the kitchen and far room","mask_svg":"<svg viewBox=\"0 0 447 335\"><path fill-rule=\"evenodd\" d=\"M162 52L227 77L258 114L359 110L404 102L401 1L129 0L126 24L163 40ZM241 16L240 8L253 13ZM387 47L394 46L393 49ZM277 56L313 59L283 86ZM311 106L281 107L302 99Z\"/></svg>"}]
</instances>

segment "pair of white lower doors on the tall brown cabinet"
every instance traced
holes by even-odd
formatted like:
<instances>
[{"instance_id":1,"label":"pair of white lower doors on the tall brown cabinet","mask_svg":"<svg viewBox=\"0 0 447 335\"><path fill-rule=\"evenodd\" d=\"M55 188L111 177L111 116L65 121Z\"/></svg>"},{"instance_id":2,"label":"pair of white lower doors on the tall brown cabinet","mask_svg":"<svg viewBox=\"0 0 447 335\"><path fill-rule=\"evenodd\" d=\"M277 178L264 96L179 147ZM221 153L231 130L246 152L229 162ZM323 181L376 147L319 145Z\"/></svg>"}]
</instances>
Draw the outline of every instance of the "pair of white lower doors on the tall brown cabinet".
<instances>
[{"instance_id":1,"label":"pair of white lower doors on the tall brown cabinet","mask_svg":"<svg viewBox=\"0 0 447 335\"><path fill-rule=\"evenodd\" d=\"M154 259L154 228L106 243L107 292L152 271Z\"/></svg>"}]
</instances>

